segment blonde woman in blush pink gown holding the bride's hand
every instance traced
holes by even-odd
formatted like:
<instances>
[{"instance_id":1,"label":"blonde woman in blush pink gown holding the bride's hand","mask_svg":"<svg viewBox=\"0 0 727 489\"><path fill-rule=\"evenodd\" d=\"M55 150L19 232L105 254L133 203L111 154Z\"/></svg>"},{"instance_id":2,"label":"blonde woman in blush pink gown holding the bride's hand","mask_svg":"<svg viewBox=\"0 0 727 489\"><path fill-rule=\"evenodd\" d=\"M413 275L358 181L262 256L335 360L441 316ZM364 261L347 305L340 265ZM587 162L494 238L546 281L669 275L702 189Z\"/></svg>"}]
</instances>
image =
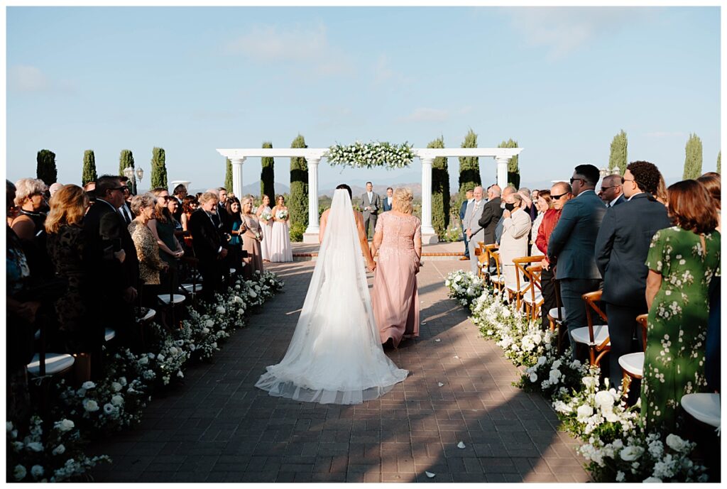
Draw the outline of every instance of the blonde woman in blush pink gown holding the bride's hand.
<instances>
[{"instance_id":1,"label":"blonde woman in blush pink gown holding the bride's hand","mask_svg":"<svg viewBox=\"0 0 727 489\"><path fill-rule=\"evenodd\" d=\"M379 215L371 254L379 254L371 305L381 342L398 347L403 336L419 336L417 272L422 256L422 223L411 215L414 196L394 190L392 209Z\"/></svg>"}]
</instances>

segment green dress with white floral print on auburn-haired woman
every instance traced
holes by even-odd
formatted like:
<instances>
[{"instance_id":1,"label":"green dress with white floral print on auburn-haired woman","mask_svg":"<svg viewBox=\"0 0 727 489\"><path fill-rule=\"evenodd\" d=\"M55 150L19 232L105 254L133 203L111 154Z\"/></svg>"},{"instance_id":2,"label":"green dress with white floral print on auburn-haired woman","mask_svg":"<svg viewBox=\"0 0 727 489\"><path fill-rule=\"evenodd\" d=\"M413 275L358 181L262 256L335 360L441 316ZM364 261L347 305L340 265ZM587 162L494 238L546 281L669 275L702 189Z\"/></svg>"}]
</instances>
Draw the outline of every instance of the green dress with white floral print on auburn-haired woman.
<instances>
[{"instance_id":1,"label":"green dress with white floral print on auburn-haired woman","mask_svg":"<svg viewBox=\"0 0 727 489\"><path fill-rule=\"evenodd\" d=\"M662 274L662 285L648 311L641 418L649 431L674 432L682 396L707 387L707 289L720 273L720 233L659 230L646 266Z\"/></svg>"}]
</instances>

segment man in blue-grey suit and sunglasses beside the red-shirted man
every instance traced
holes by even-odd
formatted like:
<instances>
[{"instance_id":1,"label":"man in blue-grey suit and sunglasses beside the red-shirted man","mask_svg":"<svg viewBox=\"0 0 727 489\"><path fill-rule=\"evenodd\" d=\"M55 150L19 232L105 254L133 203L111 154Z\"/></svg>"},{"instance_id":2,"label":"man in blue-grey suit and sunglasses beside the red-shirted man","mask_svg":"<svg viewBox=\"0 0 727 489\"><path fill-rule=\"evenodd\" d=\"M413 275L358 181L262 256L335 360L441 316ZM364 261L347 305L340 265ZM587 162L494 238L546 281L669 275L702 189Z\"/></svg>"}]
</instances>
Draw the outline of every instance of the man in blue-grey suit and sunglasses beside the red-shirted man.
<instances>
[{"instance_id":1,"label":"man in blue-grey suit and sunglasses beside the red-shirted man","mask_svg":"<svg viewBox=\"0 0 727 489\"><path fill-rule=\"evenodd\" d=\"M601 272L595 264L595 238L606 214L606 206L595 194L599 178L595 166L576 166L571 178L576 197L563 206L561 219L555 225L547 246L550 262L558 260L555 278L561 283L561 299L566 310L563 323L569 333L575 328L587 326L582 294L601 287ZM572 339L571 344L574 344Z\"/></svg>"}]
</instances>

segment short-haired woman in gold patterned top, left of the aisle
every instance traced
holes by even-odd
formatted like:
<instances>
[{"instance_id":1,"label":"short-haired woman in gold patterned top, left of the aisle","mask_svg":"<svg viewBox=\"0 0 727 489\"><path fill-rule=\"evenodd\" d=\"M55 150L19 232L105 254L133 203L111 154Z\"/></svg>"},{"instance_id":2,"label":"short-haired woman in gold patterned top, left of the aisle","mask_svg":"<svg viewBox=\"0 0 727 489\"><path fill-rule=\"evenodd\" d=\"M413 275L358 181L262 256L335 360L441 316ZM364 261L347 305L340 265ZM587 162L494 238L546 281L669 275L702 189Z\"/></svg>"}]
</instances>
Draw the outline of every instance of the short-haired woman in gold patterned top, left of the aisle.
<instances>
[{"instance_id":1,"label":"short-haired woman in gold patterned top, left of the aisle","mask_svg":"<svg viewBox=\"0 0 727 489\"><path fill-rule=\"evenodd\" d=\"M146 289L153 292L161 282L159 272L169 269L169 264L159 257L159 245L154 234L149 229L149 221L156 211L156 198L150 193L134 195L132 198L132 213L136 216L129 224L129 234L132 235L134 246L139 257L139 278ZM156 294L144 294L153 300ZM148 304L150 302L145 301Z\"/></svg>"}]
</instances>

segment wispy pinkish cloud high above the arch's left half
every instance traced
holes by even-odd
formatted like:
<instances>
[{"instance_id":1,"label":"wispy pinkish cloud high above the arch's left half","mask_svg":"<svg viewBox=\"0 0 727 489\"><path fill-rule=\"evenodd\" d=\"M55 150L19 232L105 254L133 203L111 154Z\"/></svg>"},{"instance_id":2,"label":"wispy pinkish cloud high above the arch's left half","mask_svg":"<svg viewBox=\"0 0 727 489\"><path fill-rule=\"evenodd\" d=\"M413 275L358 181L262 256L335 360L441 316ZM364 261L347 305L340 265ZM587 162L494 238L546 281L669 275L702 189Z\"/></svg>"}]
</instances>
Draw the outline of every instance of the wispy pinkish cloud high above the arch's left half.
<instances>
[{"instance_id":1,"label":"wispy pinkish cloud high above the arch's left half","mask_svg":"<svg viewBox=\"0 0 727 489\"><path fill-rule=\"evenodd\" d=\"M242 54L261 63L289 62L296 69L308 65L319 75L350 75L353 63L326 36L326 26L281 30L276 25L255 25L225 46L227 54Z\"/></svg>"}]
</instances>

